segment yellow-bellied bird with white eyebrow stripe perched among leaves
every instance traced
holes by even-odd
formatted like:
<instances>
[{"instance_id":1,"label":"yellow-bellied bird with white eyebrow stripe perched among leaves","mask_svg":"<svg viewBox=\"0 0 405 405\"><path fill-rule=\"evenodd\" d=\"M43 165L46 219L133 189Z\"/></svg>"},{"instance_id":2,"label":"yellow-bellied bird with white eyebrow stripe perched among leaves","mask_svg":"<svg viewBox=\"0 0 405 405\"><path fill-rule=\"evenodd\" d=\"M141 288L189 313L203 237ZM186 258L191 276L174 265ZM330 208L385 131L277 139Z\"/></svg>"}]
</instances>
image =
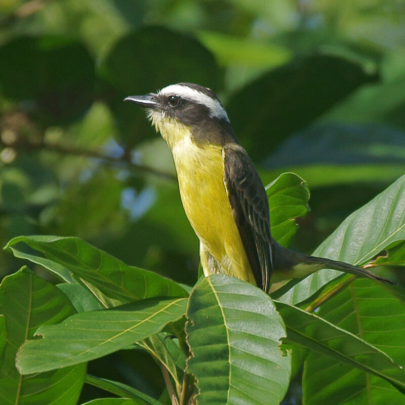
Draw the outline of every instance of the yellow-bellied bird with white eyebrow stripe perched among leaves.
<instances>
[{"instance_id":1,"label":"yellow-bellied bird with white eyebrow stripe perched among leaves","mask_svg":"<svg viewBox=\"0 0 405 405\"><path fill-rule=\"evenodd\" d=\"M271 283L335 269L395 285L354 265L294 252L271 236L267 194L225 108L209 88L171 84L129 96L171 149L180 197L199 239L204 275L226 274L268 293Z\"/></svg>"}]
</instances>

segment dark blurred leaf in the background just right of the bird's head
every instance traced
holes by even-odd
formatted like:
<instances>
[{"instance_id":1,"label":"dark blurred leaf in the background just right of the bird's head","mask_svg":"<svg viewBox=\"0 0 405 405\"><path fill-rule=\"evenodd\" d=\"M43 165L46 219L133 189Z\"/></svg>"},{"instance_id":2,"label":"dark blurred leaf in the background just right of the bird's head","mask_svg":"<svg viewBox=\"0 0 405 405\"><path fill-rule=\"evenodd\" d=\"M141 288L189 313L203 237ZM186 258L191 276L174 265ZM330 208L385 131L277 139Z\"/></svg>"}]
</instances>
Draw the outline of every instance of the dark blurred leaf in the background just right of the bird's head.
<instances>
[{"instance_id":1,"label":"dark blurred leaf in the background just right of the bird's head","mask_svg":"<svg viewBox=\"0 0 405 405\"><path fill-rule=\"evenodd\" d=\"M229 98L227 112L242 145L254 160L262 159L286 136L375 79L359 64L311 55L275 68L238 90Z\"/></svg>"}]
</instances>

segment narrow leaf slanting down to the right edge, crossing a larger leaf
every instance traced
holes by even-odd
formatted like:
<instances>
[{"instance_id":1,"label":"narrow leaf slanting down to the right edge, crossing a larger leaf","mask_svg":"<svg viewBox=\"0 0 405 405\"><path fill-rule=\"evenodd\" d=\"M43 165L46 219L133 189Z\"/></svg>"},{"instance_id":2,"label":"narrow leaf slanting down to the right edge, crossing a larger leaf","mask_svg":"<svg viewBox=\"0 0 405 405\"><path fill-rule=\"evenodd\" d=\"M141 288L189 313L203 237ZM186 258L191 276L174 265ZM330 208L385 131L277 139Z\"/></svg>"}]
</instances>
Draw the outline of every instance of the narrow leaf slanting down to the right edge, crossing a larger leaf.
<instances>
[{"instance_id":1,"label":"narrow leaf slanting down to the right edge, crossing a larger leaf","mask_svg":"<svg viewBox=\"0 0 405 405\"><path fill-rule=\"evenodd\" d=\"M334 357L339 363L345 362L350 367L385 379L405 393L405 370L383 351L298 307L282 302L276 302L276 307L286 323L285 342L316 351L316 354L311 354L314 358L319 357L319 353Z\"/></svg>"}]
</instances>

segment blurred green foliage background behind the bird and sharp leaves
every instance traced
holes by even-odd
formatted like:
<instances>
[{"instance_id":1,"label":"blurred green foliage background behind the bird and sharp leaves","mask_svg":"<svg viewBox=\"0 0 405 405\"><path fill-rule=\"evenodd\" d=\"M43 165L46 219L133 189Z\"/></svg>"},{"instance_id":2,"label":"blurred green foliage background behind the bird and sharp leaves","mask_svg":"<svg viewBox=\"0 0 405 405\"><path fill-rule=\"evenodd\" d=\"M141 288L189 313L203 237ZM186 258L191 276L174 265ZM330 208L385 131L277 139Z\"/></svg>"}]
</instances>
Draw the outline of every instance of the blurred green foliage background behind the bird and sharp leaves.
<instances>
[{"instance_id":1,"label":"blurred green foliage background behind the bird and sharp leaves","mask_svg":"<svg viewBox=\"0 0 405 405\"><path fill-rule=\"evenodd\" d=\"M265 184L287 170L307 181L297 250L404 172L404 1L7 0L0 13L2 246L75 235L193 284L170 152L122 102L169 83L218 93ZM20 265L0 253L1 277ZM92 367L151 395L163 386L146 355Z\"/></svg>"}]
</instances>

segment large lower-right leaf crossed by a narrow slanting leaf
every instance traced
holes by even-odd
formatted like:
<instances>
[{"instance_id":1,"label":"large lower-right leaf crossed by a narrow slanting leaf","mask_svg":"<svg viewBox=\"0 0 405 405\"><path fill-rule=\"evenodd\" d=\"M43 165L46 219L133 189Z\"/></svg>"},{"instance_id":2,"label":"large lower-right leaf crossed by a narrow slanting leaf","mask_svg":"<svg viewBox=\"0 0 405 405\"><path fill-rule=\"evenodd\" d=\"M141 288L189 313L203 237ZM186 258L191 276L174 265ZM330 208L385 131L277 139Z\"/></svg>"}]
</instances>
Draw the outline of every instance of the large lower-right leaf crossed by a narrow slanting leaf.
<instances>
[{"instance_id":1,"label":"large lower-right leaf crossed by a narrow slanting leaf","mask_svg":"<svg viewBox=\"0 0 405 405\"><path fill-rule=\"evenodd\" d=\"M308 405L404 403L403 302L371 280L356 279L333 299L323 304L317 314L394 359L400 365L400 370L397 367L389 370L389 363L381 356L361 357L362 362L368 360L375 369L383 372L385 376L388 374L389 379L385 376L380 377L391 384L392 379L399 383L400 377L400 385L394 385L402 394L389 382L374 374L354 369L350 365L342 364L342 361L320 353L310 353L304 366L304 403ZM322 329L319 328L317 333L323 333ZM346 350L355 351L355 348L347 344ZM360 355L361 353L362 351L359 351ZM322 376L321 385L319 375Z\"/></svg>"}]
</instances>

